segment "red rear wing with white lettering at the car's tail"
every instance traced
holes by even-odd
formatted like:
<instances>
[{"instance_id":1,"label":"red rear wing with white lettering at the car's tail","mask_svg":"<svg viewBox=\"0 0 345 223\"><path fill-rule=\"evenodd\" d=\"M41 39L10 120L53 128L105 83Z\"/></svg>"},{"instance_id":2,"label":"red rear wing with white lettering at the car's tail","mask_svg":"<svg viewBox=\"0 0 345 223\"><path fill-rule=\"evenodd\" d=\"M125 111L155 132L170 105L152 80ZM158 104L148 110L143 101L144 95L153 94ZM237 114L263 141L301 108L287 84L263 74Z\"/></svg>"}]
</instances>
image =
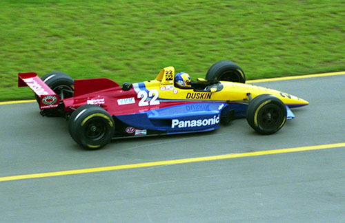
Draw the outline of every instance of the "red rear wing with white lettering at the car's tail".
<instances>
[{"instance_id":1,"label":"red rear wing with white lettering at the car's tail","mask_svg":"<svg viewBox=\"0 0 345 223\"><path fill-rule=\"evenodd\" d=\"M36 73L19 73L18 87L30 87L39 97L39 108L50 109L59 106L59 95L44 83Z\"/></svg>"}]
</instances>

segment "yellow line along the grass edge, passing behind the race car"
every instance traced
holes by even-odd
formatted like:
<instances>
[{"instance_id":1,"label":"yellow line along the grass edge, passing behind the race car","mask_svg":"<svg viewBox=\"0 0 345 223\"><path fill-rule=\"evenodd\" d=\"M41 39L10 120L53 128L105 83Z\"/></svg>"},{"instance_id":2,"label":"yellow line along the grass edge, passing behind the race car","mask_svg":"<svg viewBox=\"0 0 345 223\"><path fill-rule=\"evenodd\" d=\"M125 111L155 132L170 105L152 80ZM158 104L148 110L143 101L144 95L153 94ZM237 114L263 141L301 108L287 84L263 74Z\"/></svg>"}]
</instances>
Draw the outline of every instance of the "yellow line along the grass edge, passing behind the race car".
<instances>
[{"instance_id":1,"label":"yellow line along the grass edge, passing behind the race car","mask_svg":"<svg viewBox=\"0 0 345 223\"><path fill-rule=\"evenodd\" d=\"M280 78L266 78L266 79L258 79L252 81L246 81L246 83L260 83L260 82L269 82L269 81L287 81L287 80L295 80L295 79L302 79L302 78L315 78L321 76L336 76L336 75L344 75L344 72L332 72L332 73L324 73L324 74L308 74L302 76L286 76ZM19 104L19 103L32 103L36 100L12 100L12 101L4 101L0 102L0 105L9 105L9 104Z\"/></svg>"}]
</instances>

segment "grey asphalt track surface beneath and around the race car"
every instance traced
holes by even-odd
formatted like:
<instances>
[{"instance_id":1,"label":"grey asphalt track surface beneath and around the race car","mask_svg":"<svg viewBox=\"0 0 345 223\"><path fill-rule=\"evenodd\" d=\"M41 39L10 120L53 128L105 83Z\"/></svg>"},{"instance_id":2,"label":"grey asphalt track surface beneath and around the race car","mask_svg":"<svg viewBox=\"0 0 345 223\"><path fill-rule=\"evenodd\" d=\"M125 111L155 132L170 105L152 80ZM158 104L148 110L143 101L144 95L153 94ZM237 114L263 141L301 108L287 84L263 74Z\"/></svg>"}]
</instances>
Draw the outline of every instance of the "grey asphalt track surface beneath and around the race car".
<instances>
[{"instance_id":1,"label":"grey asphalt track surface beneath and around the race car","mask_svg":"<svg viewBox=\"0 0 345 223\"><path fill-rule=\"evenodd\" d=\"M345 222L344 82L257 83L311 103L271 136L239 119L98 151L36 103L3 103L0 222Z\"/></svg>"}]
</instances>

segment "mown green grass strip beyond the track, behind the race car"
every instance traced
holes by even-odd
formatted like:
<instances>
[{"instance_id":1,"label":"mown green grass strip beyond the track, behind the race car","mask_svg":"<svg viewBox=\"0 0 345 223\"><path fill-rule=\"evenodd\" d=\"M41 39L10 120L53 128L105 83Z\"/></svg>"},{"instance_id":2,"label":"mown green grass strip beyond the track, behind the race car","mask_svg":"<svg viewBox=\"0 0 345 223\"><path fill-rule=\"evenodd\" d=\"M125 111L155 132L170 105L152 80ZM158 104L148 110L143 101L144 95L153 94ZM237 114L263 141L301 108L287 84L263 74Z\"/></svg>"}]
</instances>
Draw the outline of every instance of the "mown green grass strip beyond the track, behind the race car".
<instances>
[{"instance_id":1,"label":"mown green grass strip beyond the track, behind the race car","mask_svg":"<svg viewBox=\"0 0 345 223\"><path fill-rule=\"evenodd\" d=\"M247 79L345 70L344 0L0 1L0 100L18 72L146 81L220 60Z\"/></svg>"}]
</instances>

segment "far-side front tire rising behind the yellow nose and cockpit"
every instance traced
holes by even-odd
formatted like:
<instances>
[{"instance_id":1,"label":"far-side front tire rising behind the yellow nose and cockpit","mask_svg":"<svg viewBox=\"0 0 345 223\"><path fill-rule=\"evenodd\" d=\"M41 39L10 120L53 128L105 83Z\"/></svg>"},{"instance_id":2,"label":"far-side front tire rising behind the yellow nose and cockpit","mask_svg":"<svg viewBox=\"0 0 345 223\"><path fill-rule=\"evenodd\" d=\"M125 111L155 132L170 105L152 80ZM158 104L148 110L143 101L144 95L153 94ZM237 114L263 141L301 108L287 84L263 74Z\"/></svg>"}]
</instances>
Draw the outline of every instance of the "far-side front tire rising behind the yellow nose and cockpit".
<instances>
[{"instance_id":1,"label":"far-side front tire rising behind the yellow nose and cockpit","mask_svg":"<svg viewBox=\"0 0 345 223\"><path fill-rule=\"evenodd\" d=\"M231 61L219 61L208 69L206 80L246 83L246 75L242 68L236 63Z\"/></svg>"}]
</instances>

